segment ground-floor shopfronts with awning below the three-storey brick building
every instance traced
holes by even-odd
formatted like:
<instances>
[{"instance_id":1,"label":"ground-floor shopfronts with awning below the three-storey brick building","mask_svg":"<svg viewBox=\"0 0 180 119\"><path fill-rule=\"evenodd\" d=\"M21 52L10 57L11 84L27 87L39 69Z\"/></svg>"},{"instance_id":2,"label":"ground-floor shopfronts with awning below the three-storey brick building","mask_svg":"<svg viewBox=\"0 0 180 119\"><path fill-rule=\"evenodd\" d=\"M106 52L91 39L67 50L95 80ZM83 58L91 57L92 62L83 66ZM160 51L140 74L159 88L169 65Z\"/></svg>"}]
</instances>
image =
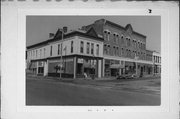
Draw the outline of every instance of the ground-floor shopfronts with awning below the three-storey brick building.
<instances>
[{"instance_id":1,"label":"ground-floor shopfronts with awning below the three-storey brick building","mask_svg":"<svg viewBox=\"0 0 180 119\"><path fill-rule=\"evenodd\" d=\"M104 60L104 77L116 77L123 74L136 74L138 77L152 75L152 64L123 60Z\"/></svg>"}]
</instances>

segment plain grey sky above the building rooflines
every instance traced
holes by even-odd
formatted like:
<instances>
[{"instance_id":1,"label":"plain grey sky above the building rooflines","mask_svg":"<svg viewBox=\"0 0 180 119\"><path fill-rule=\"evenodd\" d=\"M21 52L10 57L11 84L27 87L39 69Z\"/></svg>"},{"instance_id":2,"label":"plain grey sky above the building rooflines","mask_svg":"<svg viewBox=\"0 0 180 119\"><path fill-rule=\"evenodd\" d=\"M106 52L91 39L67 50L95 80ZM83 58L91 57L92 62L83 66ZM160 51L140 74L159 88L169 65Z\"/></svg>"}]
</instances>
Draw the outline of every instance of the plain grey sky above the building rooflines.
<instances>
[{"instance_id":1,"label":"plain grey sky above the building rooflines","mask_svg":"<svg viewBox=\"0 0 180 119\"><path fill-rule=\"evenodd\" d=\"M123 27L131 24L134 31L147 36L146 49L161 52L160 16L27 16L26 45L48 40L49 33L56 33L63 26L74 30L98 19L106 19Z\"/></svg>"}]
</instances>

